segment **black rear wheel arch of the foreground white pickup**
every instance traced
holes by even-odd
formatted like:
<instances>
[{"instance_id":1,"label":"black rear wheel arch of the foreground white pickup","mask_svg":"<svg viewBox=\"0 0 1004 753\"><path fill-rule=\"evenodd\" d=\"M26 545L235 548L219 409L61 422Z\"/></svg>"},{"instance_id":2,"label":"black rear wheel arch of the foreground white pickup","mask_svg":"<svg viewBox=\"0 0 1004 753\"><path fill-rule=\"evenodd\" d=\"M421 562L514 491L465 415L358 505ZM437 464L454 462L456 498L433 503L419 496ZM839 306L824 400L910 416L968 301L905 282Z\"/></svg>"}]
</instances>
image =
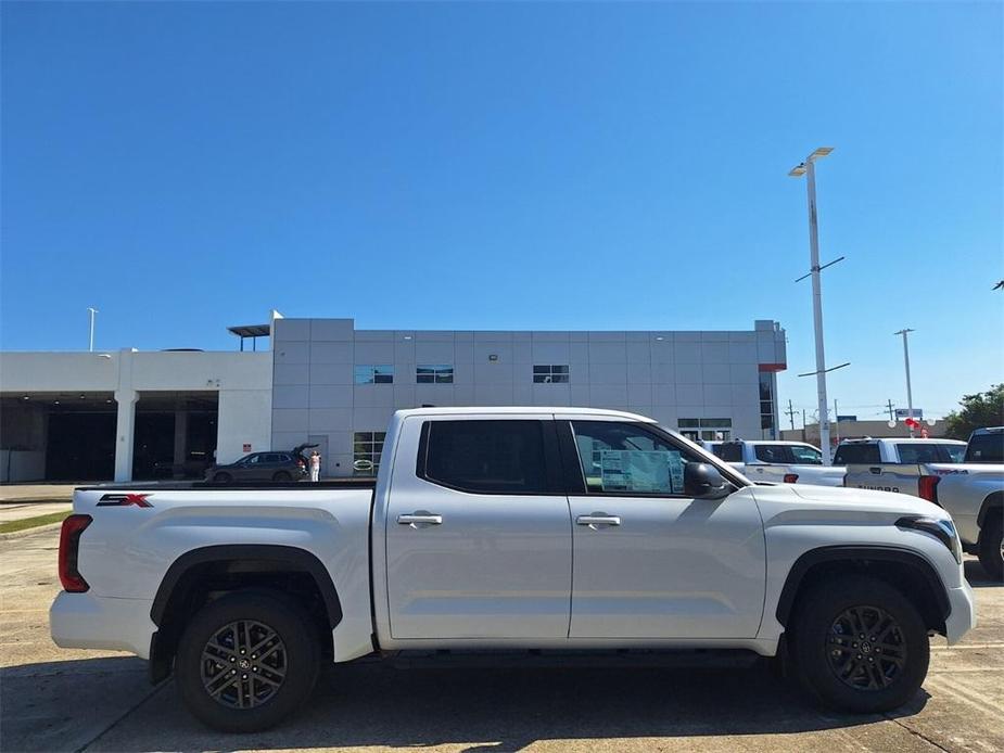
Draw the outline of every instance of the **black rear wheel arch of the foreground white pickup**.
<instances>
[{"instance_id":1,"label":"black rear wheel arch of the foreground white pickup","mask_svg":"<svg viewBox=\"0 0 1004 753\"><path fill-rule=\"evenodd\" d=\"M205 604L239 590L276 590L310 615L325 658L333 655L331 630L342 605L328 570L310 552L278 545L223 545L193 549L168 567L150 617L157 626L150 640L150 679L171 672L178 641Z\"/></svg>"}]
</instances>

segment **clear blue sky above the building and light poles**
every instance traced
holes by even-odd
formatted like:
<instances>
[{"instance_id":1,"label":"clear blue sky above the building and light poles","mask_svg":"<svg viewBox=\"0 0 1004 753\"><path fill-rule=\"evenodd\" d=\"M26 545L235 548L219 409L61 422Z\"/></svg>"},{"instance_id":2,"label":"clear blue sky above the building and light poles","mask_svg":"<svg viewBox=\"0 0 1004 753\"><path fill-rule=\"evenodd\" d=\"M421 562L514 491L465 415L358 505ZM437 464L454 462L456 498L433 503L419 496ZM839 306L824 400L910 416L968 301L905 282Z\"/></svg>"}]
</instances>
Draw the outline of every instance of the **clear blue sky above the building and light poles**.
<instances>
[{"instance_id":1,"label":"clear blue sky above the building and light poles","mask_svg":"<svg viewBox=\"0 0 1004 753\"><path fill-rule=\"evenodd\" d=\"M1004 5L2 4L0 347L751 329L812 408L1004 379ZM785 422L787 423L787 422Z\"/></svg>"}]
</instances>

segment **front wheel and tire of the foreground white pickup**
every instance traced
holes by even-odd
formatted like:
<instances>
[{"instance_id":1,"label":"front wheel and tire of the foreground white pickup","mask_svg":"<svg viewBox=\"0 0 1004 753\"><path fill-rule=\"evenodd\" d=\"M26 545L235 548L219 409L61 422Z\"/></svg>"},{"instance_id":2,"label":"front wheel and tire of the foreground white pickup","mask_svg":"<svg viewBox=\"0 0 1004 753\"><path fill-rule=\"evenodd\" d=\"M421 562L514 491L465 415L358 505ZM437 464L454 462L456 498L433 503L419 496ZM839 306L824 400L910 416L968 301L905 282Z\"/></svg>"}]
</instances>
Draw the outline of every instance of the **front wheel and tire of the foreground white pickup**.
<instances>
[{"instance_id":1,"label":"front wheel and tire of the foreground white pickup","mask_svg":"<svg viewBox=\"0 0 1004 753\"><path fill-rule=\"evenodd\" d=\"M801 600L791 627L799 680L827 706L890 711L912 699L927 676L924 621L882 580L848 575L818 583Z\"/></svg>"}]
</instances>

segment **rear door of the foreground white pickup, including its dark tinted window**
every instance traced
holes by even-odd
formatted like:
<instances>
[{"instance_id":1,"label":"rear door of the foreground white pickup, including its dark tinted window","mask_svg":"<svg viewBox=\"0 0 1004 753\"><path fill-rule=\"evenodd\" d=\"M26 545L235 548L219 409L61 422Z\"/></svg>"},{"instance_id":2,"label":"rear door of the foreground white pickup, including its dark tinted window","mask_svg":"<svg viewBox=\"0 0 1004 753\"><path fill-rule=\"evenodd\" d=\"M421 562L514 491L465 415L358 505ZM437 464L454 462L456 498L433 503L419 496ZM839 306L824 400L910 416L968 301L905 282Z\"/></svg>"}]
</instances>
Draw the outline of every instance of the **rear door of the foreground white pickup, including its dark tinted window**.
<instances>
[{"instance_id":1,"label":"rear door of the foreground white pickup, including its dark tinted window","mask_svg":"<svg viewBox=\"0 0 1004 753\"><path fill-rule=\"evenodd\" d=\"M568 498L552 420L404 422L386 518L394 639L567 638Z\"/></svg>"}]
</instances>

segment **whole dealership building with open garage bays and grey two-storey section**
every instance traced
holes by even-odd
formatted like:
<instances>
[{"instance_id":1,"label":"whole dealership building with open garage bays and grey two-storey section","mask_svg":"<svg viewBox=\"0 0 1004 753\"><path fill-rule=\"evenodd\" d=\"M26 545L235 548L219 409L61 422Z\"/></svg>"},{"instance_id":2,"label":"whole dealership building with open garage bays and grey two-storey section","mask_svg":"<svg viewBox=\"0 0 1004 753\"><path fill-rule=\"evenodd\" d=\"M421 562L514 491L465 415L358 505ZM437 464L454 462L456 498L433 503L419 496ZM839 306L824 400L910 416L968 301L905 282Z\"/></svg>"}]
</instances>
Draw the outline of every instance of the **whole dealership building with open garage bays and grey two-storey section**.
<instances>
[{"instance_id":1,"label":"whole dealership building with open garage bays and grey two-storey section","mask_svg":"<svg viewBox=\"0 0 1004 753\"><path fill-rule=\"evenodd\" d=\"M420 406L613 408L691 438L774 438L786 368L770 320L427 331L274 312L230 331L239 350L0 354L0 482L201 476L214 459L303 443L319 446L323 475L366 474L391 414Z\"/></svg>"}]
</instances>

